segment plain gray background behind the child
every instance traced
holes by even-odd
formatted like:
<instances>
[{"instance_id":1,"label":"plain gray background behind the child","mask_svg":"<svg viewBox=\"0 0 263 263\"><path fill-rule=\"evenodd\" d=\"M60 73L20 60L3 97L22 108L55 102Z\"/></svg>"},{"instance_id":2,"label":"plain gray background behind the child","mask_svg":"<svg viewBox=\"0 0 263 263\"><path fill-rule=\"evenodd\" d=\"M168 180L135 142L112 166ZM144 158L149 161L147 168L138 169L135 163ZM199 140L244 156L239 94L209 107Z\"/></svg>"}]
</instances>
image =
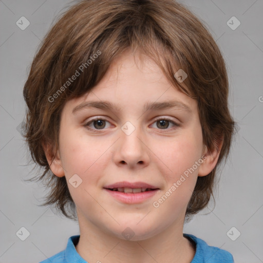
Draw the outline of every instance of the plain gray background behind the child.
<instances>
[{"instance_id":1,"label":"plain gray background behind the child","mask_svg":"<svg viewBox=\"0 0 263 263\"><path fill-rule=\"evenodd\" d=\"M181 2L205 22L217 40L229 70L231 112L239 124L230 158L222 168L214 210L211 202L185 224L184 233L230 251L235 262L263 262L263 1ZM45 194L40 183L21 179L33 175L19 129L25 116L23 86L36 48L68 3L0 0L0 262L39 262L64 250L68 238L79 234L77 222L38 206ZM21 16L30 22L25 30L16 25ZM227 24L232 16L241 23L235 30ZM21 227L30 232L25 241L16 235ZM241 233L235 241L227 235L232 227ZM237 230L230 231L232 239Z\"/></svg>"}]
</instances>

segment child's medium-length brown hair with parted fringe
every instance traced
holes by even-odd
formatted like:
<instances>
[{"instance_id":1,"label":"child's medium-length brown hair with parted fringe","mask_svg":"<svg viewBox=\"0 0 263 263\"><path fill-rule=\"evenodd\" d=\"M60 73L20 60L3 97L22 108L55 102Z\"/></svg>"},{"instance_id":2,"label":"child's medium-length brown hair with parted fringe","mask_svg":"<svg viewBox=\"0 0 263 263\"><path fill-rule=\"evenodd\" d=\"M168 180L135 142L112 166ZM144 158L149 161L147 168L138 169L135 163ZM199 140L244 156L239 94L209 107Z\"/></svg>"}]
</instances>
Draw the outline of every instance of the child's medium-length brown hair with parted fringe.
<instances>
[{"instance_id":1,"label":"child's medium-length brown hair with parted fringe","mask_svg":"<svg viewBox=\"0 0 263 263\"><path fill-rule=\"evenodd\" d=\"M175 88L197 100L203 143L209 150L223 138L217 165L209 175L198 177L186 216L208 204L216 168L229 155L235 123L228 108L226 65L200 18L172 0L81 1L47 33L24 86L25 138L33 161L44 167L35 179L46 179L50 189L43 205L55 204L68 218L75 219L76 211L66 178L50 171L42 143L51 142L56 153L64 104L90 91L128 48L152 58ZM183 82L174 77L179 69L187 73ZM78 78L68 83L77 71Z\"/></svg>"}]
</instances>

